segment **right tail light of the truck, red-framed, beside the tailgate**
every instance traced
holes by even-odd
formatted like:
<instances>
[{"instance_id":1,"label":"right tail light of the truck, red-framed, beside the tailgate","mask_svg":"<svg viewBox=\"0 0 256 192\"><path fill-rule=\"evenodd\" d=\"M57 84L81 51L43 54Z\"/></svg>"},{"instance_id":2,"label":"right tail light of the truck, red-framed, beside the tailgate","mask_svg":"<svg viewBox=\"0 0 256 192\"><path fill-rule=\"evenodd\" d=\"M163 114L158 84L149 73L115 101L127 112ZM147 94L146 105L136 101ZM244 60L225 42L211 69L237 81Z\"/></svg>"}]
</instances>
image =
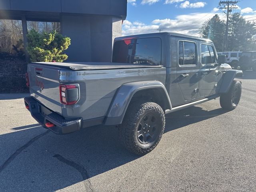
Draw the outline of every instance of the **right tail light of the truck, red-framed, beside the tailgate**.
<instances>
[{"instance_id":1,"label":"right tail light of the truck, red-framed, beside the tailgate","mask_svg":"<svg viewBox=\"0 0 256 192\"><path fill-rule=\"evenodd\" d=\"M60 85L60 102L64 105L76 104L79 100L79 87L76 85Z\"/></svg>"}]
</instances>

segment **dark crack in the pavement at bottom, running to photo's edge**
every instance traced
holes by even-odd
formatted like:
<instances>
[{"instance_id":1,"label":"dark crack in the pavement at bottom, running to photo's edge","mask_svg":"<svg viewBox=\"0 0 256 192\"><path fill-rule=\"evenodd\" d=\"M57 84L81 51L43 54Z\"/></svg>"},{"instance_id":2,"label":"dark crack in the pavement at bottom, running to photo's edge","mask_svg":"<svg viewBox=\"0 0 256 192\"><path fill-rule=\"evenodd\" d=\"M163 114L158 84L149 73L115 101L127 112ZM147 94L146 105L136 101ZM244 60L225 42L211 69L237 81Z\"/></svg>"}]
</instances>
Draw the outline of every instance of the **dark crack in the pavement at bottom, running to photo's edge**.
<instances>
[{"instance_id":1,"label":"dark crack in the pavement at bottom, running to photo's edge","mask_svg":"<svg viewBox=\"0 0 256 192\"><path fill-rule=\"evenodd\" d=\"M83 181L88 182L87 189L93 192L92 184L89 180L90 176L89 176L87 170L84 168L84 166L82 166L82 165L80 165L76 162L73 162L71 160L68 160L68 159L64 158L63 156L61 156L59 154L54 154L53 157L57 158L60 162L65 163L65 164L75 168L76 170L78 170L78 172L80 172L80 174L82 175Z\"/></svg>"}]
</instances>

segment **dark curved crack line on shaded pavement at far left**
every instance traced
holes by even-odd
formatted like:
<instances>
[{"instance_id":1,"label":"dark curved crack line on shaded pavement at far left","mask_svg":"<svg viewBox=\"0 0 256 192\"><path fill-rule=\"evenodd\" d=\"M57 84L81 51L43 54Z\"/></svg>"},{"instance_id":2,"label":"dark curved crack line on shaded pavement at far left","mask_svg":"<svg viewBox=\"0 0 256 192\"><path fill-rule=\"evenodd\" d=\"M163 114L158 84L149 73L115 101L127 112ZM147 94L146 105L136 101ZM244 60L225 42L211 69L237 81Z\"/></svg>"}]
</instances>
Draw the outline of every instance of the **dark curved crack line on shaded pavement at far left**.
<instances>
[{"instance_id":1,"label":"dark curved crack line on shaded pavement at far left","mask_svg":"<svg viewBox=\"0 0 256 192\"><path fill-rule=\"evenodd\" d=\"M26 149L28 146L30 146L32 143L34 143L36 140L38 140L40 137L48 134L50 130L47 130L46 132L32 138L29 140L25 145L22 147L18 148L14 154L12 154L1 166L0 166L0 173L18 156L24 149Z\"/></svg>"}]
</instances>

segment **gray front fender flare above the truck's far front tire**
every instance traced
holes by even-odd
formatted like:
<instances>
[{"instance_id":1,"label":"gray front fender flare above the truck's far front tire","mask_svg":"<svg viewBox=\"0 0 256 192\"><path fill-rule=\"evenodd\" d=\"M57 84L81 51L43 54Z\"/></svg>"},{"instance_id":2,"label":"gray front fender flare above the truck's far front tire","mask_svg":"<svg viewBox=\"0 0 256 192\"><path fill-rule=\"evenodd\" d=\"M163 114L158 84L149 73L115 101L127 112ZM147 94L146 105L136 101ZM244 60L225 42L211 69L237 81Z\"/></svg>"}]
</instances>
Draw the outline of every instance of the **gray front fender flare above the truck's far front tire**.
<instances>
[{"instance_id":1,"label":"gray front fender flare above the truck's far front tire","mask_svg":"<svg viewBox=\"0 0 256 192\"><path fill-rule=\"evenodd\" d=\"M222 76L222 84L220 86L220 94L226 94L231 85L232 82L234 81L235 77L242 77L243 76L243 72L242 70L227 70L227 72Z\"/></svg>"}]
</instances>

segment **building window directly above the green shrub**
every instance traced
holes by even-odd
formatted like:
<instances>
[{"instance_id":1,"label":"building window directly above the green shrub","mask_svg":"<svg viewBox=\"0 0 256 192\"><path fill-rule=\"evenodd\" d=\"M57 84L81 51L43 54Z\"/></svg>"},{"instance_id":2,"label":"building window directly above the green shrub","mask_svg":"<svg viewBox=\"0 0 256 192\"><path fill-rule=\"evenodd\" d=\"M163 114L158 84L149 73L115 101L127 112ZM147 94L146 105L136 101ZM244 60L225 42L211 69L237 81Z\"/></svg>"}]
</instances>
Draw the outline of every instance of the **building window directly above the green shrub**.
<instances>
[{"instance_id":1,"label":"building window directly above the green shrub","mask_svg":"<svg viewBox=\"0 0 256 192\"><path fill-rule=\"evenodd\" d=\"M50 33L54 30L60 33L60 22L27 21L28 32L34 29L39 33Z\"/></svg>"}]
</instances>

